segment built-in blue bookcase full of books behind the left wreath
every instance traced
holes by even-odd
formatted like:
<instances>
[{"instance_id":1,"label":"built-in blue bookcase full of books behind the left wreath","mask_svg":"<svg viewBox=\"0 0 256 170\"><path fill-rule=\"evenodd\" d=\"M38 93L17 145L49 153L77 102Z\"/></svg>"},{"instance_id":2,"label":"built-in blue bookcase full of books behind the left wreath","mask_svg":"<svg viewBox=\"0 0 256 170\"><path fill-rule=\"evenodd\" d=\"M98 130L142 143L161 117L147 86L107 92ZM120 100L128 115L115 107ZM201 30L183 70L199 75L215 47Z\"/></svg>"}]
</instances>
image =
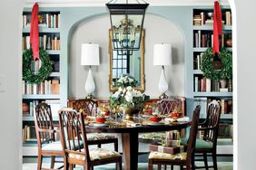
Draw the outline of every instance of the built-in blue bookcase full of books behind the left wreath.
<instances>
[{"instance_id":1,"label":"built-in blue bookcase full of books behind the left wreath","mask_svg":"<svg viewBox=\"0 0 256 170\"><path fill-rule=\"evenodd\" d=\"M23 13L23 51L30 48L30 22L31 8L25 9ZM32 84L23 80L23 156L37 156L36 137L34 130L34 109L35 106L44 101L51 106L54 122L58 121L58 109L66 106L61 103L63 98L61 87L62 75L60 70L61 57L61 32L60 32L60 11L44 11L39 9L39 46L48 52L54 61L53 72L49 77L39 84ZM41 61L32 63L33 71L38 71Z\"/></svg>"}]
</instances>

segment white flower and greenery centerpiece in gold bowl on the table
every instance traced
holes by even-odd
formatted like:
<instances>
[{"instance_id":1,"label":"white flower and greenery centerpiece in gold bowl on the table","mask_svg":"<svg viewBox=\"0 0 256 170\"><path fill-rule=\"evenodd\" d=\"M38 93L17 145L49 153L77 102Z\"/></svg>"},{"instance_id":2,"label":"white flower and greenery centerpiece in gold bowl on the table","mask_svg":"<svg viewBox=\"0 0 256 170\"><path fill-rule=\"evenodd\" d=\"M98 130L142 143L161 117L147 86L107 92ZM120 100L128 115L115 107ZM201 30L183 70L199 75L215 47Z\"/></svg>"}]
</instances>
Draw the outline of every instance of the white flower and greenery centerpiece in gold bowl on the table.
<instances>
[{"instance_id":1,"label":"white flower and greenery centerpiece in gold bowl on the table","mask_svg":"<svg viewBox=\"0 0 256 170\"><path fill-rule=\"evenodd\" d=\"M134 112L143 110L143 102L150 99L139 90L133 88L136 80L133 77L125 76L117 80L119 88L110 97L111 107L125 112L125 115L133 115Z\"/></svg>"}]
</instances>

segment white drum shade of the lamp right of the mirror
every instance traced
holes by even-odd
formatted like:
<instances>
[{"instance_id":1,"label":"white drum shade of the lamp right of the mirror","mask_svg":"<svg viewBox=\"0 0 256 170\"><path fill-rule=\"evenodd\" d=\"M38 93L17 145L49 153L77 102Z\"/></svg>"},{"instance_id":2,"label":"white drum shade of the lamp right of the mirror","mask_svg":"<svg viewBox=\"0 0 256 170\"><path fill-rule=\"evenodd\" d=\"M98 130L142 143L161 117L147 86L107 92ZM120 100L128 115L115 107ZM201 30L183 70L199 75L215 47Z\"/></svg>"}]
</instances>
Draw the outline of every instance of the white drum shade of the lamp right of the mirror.
<instances>
[{"instance_id":1,"label":"white drum shade of the lamp right of the mirror","mask_svg":"<svg viewBox=\"0 0 256 170\"><path fill-rule=\"evenodd\" d=\"M153 46L153 65L172 64L172 45L169 43L155 44Z\"/></svg>"}]
</instances>

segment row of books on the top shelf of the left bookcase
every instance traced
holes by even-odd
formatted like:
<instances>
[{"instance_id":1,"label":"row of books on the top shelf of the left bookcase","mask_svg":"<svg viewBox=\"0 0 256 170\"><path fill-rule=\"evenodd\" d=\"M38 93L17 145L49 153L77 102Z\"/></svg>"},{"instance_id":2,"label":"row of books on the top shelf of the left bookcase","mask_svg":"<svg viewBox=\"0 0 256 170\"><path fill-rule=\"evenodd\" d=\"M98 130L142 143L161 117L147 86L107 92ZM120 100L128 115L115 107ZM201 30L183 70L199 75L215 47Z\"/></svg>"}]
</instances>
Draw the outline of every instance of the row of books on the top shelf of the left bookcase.
<instances>
[{"instance_id":1,"label":"row of books on the top shelf of the left bookcase","mask_svg":"<svg viewBox=\"0 0 256 170\"><path fill-rule=\"evenodd\" d=\"M45 28L60 28L60 14L40 14L38 24ZM23 28L30 28L31 14L23 15Z\"/></svg>"}]
</instances>

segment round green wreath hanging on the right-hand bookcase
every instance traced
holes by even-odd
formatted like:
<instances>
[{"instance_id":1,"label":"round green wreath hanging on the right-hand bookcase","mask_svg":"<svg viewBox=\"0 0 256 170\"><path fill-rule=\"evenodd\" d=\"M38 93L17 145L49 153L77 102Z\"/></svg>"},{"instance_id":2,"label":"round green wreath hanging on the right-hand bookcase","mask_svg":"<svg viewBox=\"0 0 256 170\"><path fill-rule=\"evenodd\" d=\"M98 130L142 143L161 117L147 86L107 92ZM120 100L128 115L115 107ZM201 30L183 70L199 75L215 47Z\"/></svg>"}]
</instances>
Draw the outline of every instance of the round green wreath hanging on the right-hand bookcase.
<instances>
[{"instance_id":1,"label":"round green wreath hanging on the right-hand bookcase","mask_svg":"<svg viewBox=\"0 0 256 170\"><path fill-rule=\"evenodd\" d=\"M213 67L214 54L212 48L202 52L201 70L207 79L227 80L232 78L232 53L221 48L219 58L222 61L221 71L215 71Z\"/></svg>"}]
</instances>

